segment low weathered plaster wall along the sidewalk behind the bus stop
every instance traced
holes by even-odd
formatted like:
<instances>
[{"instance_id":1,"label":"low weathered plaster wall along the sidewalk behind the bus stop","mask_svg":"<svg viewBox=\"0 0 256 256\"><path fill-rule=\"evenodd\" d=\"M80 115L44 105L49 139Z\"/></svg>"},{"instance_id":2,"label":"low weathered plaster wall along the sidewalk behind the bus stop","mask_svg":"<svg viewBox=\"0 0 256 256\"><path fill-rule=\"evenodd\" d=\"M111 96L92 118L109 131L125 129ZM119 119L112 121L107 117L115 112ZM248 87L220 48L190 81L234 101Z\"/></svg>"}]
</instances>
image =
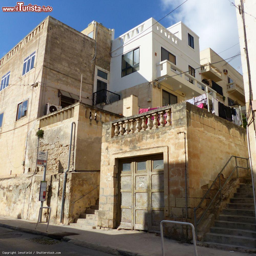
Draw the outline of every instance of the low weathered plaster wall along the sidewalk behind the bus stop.
<instances>
[{"instance_id":1,"label":"low weathered plaster wall along the sidewalk behind the bus stop","mask_svg":"<svg viewBox=\"0 0 256 256\"><path fill-rule=\"evenodd\" d=\"M68 173L64 205L64 224L73 222L73 219L78 218L80 213L84 213L90 205L95 204L99 197L99 177L99 171ZM0 214L17 219L37 220L40 207L38 199L41 180L41 172L36 175L1 178ZM50 206L52 208L50 223L59 224L63 174L47 174L46 181L47 193L44 206ZM82 197L83 195L86 196ZM82 198L79 199L80 197ZM43 221L47 220L48 213L48 209L44 210Z\"/></svg>"}]
</instances>

